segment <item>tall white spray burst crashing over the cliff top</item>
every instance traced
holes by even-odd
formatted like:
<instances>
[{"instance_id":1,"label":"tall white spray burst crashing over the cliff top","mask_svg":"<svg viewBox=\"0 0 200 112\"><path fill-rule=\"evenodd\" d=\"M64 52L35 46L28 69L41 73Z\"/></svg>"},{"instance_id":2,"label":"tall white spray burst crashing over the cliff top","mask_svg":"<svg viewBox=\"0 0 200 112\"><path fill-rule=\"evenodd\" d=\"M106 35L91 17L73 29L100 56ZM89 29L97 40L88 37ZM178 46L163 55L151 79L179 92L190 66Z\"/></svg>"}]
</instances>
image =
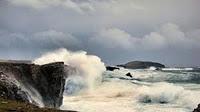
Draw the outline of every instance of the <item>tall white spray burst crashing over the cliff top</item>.
<instances>
[{"instance_id":1,"label":"tall white spray burst crashing over the cliff top","mask_svg":"<svg viewBox=\"0 0 200 112\"><path fill-rule=\"evenodd\" d=\"M88 55L85 51L72 52L64 48L48 52L35 59L33 63L42 65L58 61L74 67L76 72L68 70L68 72L73 73L70 76L71 81L75 81L78 76L79 81L80 78L84 80L82 82L85 82L84 86L87 87L88 91L92 91L101 82L102 73L106 70L99 57ZM75 82L77 83L77 81Z\"/></svg>"}]
</instances>

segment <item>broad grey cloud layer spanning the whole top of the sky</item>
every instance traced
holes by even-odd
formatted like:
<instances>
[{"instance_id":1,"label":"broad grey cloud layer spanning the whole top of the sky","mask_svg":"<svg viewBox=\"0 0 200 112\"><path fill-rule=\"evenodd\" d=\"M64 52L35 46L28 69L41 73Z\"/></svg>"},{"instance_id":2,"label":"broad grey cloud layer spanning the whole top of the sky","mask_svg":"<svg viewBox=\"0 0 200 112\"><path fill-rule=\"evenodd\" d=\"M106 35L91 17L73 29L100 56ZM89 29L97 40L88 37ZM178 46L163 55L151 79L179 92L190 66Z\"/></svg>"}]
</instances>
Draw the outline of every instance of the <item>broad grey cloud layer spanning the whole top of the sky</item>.
<instances>
[{"instance_id":1,"label":"broad grey cloud layer spanning the whole top of the sky","mask_svg":"<svg viewBox=\"0 0 200 112\"><path fill-rule=\"evenodd\" d=\"M0 26L20 32L53 28L70 33L91 33L104 27L116 27L143 35L166 22L189 29L200 25L200 7L196 0L4 1L8 4L0 7ZM29 25L32 28L27 28Z\"/></svg>"}]
</instances>

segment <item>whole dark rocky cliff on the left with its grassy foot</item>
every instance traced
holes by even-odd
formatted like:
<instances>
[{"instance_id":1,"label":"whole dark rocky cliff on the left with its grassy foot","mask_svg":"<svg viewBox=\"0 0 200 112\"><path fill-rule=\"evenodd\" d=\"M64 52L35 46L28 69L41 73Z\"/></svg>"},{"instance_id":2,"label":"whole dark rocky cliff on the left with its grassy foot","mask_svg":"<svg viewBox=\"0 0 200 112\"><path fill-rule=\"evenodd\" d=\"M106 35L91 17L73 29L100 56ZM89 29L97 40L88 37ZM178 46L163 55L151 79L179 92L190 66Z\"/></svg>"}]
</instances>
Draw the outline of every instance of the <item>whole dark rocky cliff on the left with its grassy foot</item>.
<instances>
[{"instance_id":1,"label":"whole dark rocky cliff on the left with its grassy foot","mask_svg":"<svg viewBox=\"0 0 200 112\"><path fill-rule=\"evenodd\" d=\"M0 111L14 109L17 112L29 112L26 109L23 111L28 106L31 112L58 112L48 108L59 108L62 105L67 77L64 67L67 66L63 62L40 66L25 61L1 61Z\"/></svg>"}]
</instances>

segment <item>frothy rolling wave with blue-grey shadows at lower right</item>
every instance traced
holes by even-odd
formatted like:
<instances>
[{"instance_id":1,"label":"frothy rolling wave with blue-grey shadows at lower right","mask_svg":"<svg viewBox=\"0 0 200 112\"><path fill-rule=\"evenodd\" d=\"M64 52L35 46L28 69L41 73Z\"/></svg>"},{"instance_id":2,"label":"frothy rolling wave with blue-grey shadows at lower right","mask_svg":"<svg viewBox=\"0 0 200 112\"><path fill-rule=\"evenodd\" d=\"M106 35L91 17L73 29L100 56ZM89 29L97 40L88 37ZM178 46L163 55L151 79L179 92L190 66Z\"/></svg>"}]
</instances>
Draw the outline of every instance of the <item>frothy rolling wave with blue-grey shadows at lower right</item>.
<instances>
[{"instance_id":1,"label":"frothy rolling wave with blue-grey shadows at lower right","mask_svg":"<svg viewBox=\"0 0 200 112\"><path fill-rule=\"evenodd\" d=\"M176 104L188 109L194 109L200 100L200 98L196 98L199 93L165 82L154 83L152 86L142 86L138 92L140 102Z\"/></svg>"}]
</instances>

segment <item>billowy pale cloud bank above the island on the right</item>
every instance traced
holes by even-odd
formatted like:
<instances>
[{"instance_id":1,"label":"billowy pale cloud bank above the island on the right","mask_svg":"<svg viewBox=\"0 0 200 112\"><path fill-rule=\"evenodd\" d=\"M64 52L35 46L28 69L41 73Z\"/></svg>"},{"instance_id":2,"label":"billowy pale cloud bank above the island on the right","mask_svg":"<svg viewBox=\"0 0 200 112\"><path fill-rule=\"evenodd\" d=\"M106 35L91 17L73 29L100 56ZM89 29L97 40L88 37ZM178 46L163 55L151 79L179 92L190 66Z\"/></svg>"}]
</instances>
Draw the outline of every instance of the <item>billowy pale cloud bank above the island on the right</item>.
<instances>
[{"instance_id":1,"label":"billowy pale cloud bank above the island on the right","mask_svg":"<svg viewBox=\"0 0 200 112\"><path fill-rule=\"evenodd\" d=\"M191 32L190 32L191 33ZM193 32L193 37L199 32ZM128 32L117 28L104 29L97 33L90 40L101 47L116 48L123 50L162 50L166 48L193 48L199 46L199 36L186 37L188 32L183 32L173 23L166 23L159 29L143 37L134 37Z\"/></svg>"}]
</instances>

